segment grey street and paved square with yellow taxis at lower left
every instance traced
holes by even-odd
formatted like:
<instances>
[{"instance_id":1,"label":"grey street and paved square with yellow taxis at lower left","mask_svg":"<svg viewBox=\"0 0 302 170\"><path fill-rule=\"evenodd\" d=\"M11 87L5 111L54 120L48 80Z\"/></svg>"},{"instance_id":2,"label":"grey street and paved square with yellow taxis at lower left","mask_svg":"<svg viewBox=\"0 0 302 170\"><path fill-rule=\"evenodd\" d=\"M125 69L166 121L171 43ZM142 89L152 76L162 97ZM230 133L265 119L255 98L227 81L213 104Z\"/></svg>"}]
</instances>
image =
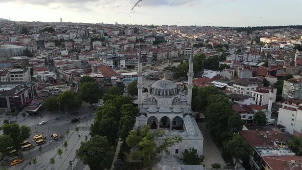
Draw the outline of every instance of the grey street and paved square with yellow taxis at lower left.
<instances>
[{"instance_id":1,"label":"grey street and paved square with yellow taxis at lower left","mask_svg":"<svg viewBox=\"0 0 302 170\"><path fill-rule=\"evenodd\" d=\"M87 105L87 104L84 104L84 105ZM75 157L75 151L80 146L80 141L83 141L83 139L85 139L85 136L89 137L90 124L93 122L94 117L95 117L94 112L95 111L93 110L93 108L83 107L78 110L78 114L76 114L76 115L62 115L61 114L61 116L60 116L59 114L46 113L43 116L26 117L26 119L20 120L20 122L19 122L20 125L26 124L26 125L30 126L31 135L30 135L28 141L31 142L33 145L35 145L35 147L24 152L23 163L13 166L10 169L24 169L25 167L29 166L30 159L32 159L33 157L37 157L37 159L39 159L40 161L43 160L43 162L39 162L39 164L40 164L40 166L45 165L45 168L47 169L47 167L48 167L47 163L49 164L49 159L50 159L50 157L52 157L48 154L50 154L50 153L53 154L53 152L55 152L55 154L57 155L57 147L59 145L61 145L64 140L68 141L69 147L73 146L68 151L69 152L72 151L73 154L71 154L70 156ZM56 117L58 117L59 119L55 120ZM79 118L80 121L78 121L76 123L72 123L71 119L73 119L73 118ZM47 123L42 124L42 125L37 125L41 121L47 121ZM76 126L79 127L79 131L80 131L79 135L81 135L81 140L76 140L76 139L79 139L77 132L75 132ZM69 136L66 135L67 130L70 131ZM52 135L54 133L56 133L58 135L57 140L54 140L52 137L50 137L50 135ZM45 135L46 141L47 141L46 143L40 145L42 147L41 155L38 151L39 145L37 145L35 140L33 140L33 136L38 135L38 134ZM60 139L61 135L64 136L63 140ZM77 141L79 141L79 142L77 142ZM61 147L61 148L63 150L63 155L64 155L65 151L64 151L63 147ZM63 155L62 155L62 157L63 157ZM38 158L38 157L42 157L42 156L47 156L49 158L47 158L47 159ZM55 155L53 155L53 157L55 157ZM12 160L17 159L17 158L19 158L18 155L9 157L8 159L6 159L5 160L6 165L7 165L6 167L9 167L9 163ZM57 158L58 158L58 156L57 156ZM72 159L74 159L74 158L72 158ZM56 161L56 162L59 162L59 161ZM79 161L77 161L77 163L78 162ZM75 167L76 167L77 163L74 165ZM69 163L67 163L67 164L69 165ZM33 165L33 164L31 164L31 165ZM82 169L83 164L79 163L78 166L80 166L80 167L77 167L77 168ZM25 168L25 169L33 169L33 168ZM39 168L37 168L37 169L39 169ZM62 168L62 169L67 169L67 168Z\"/></svg>"}]
</instances>

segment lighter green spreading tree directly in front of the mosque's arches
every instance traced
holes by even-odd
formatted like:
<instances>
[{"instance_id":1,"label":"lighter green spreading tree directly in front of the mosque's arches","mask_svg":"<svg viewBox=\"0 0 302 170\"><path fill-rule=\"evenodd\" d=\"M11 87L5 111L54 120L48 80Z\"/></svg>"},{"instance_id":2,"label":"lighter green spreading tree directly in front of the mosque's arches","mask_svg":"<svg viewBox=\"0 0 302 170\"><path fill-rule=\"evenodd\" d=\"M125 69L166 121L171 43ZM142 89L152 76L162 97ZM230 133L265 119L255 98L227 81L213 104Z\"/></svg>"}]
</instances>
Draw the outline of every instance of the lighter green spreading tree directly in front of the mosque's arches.
<instances>
[{"instance_id":1,"label":"lighter green spreading tree directly in front of the mosque's arches","mask_svg":"<svg viewBox=\"0 0 302 170\"><path fill-rule=\"evenodd\" d=\"M131 156L134 159L141 159L145 166L152 165L157 152L168 152L167 148L174 143L181 142L182 138L178 136L165 137L163 143L157 145L155 138L163 137L163 131L151 132L150 126L145 124L138 131L132 130L126 138L126 143L132 148L138 148L132 151Z\"/></svg>"}]
</instances>

